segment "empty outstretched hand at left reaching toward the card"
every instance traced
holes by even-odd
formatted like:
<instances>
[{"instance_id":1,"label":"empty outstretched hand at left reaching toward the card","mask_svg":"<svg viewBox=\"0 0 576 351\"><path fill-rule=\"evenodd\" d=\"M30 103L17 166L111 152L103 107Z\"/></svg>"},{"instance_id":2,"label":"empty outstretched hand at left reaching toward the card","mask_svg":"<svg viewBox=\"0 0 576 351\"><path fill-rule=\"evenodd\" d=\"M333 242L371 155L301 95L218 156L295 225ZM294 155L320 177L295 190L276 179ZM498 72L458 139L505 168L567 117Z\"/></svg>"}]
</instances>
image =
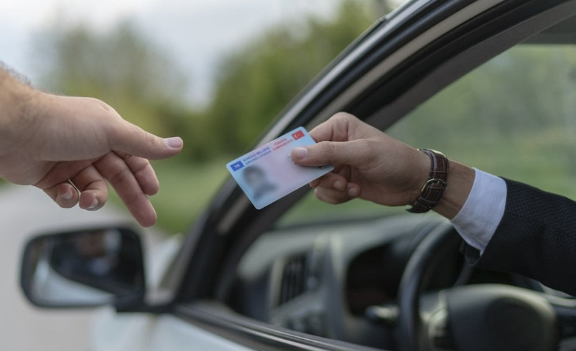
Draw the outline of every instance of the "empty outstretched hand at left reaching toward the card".
<instances>
[{"instance_id":1,"label":"empty outstretched hand at left reaching toward the card","mask_svg":"<svg viewBox=\"0 0 576 351\"><path fill-rule=\"evenodd\" d=\"M178 154L181 138L147 133L93 98L25 97L15 113L0 116L8 120L0 131L1 178L35 185L61 207L91 211L106 203L110 183L140 225L156 222L148 195L159 183L148 159Z\"/></svg>"}]
</instances>

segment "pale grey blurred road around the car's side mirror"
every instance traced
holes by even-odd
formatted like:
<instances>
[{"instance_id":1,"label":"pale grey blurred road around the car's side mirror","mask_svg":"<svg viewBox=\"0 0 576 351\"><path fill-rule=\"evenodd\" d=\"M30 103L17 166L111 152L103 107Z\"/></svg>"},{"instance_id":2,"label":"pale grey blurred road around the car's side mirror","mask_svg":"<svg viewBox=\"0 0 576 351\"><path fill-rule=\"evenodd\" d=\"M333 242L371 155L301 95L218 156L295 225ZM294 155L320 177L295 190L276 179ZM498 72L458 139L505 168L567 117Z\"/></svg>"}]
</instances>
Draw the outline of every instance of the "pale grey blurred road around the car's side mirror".
<instances>
[{"instance_id":1,"label":"pale grey blurred road around the car's side mirror","mask_svg":"<svg viewBox=\"0 0 576 351\"><path fill-rule=\"evenodd\" d=\"M107 204L100 211L56 206L34 187L0 187L0 350L89 350L91 310L41 310L25 300L18 274L25 241L66 228L132 223Z\"/></svg>"}]
</instances>

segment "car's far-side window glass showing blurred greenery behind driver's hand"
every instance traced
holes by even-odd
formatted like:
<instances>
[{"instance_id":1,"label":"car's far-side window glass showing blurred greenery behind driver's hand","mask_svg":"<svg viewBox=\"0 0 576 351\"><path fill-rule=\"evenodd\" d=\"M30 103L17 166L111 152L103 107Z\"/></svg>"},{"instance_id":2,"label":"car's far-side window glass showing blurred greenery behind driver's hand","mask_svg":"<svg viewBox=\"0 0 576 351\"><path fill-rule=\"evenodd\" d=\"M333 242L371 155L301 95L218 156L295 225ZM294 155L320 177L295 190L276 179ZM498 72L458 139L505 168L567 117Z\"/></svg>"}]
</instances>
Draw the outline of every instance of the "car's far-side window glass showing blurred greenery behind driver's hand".
<instances>
[{"instance_id":1,"label":"car's far-side window glass showing blurred greenery behind driver's hand","mask_svg":"<svg viewBox=\"0 0 576 351\"><path fill-rule=\"evenodd\" d=\"M424 102L386 131L414 147L576 198L576 47L522 44ZM280 226L398 213L362 200L323 204L312 192Z\"/></svg>"}]
</instances>

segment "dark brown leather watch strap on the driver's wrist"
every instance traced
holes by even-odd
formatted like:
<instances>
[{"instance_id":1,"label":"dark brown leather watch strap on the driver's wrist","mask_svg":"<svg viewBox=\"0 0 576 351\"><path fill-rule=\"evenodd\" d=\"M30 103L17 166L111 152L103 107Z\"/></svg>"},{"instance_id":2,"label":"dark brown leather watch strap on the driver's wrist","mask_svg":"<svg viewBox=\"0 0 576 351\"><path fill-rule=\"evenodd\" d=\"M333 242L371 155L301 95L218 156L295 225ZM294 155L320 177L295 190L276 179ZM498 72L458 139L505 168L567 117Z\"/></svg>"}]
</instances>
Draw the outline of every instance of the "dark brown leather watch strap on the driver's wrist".
<instances>
[{"instance_id":1,"label":"dark brown leather watch strap on the driver's wrist","mask_svg":"<svg viewBox=\"0 0 576 351\"><path fill-rule=\"evenodd\" d=\"M429 149L418 149L424 154L430 157L430 174L428 175L428 181L422 187L419 197L414 201L411 208L406 211L412 213L425 213L434 208L444 194L444 190L447 187L448 179L448 159L442 154L442 152L429 150Z\"/></svg>"}]
</instances>

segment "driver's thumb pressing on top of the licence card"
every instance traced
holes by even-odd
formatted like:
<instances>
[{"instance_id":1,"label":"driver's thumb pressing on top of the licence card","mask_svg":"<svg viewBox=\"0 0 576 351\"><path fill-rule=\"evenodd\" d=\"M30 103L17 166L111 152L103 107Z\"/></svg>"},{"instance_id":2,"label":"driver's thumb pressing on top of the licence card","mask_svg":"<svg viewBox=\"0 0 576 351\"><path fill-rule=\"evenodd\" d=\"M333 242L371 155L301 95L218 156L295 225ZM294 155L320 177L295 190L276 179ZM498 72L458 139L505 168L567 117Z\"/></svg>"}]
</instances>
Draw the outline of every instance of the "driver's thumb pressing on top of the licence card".
<instances>
[{"instance_id":1,"label":"driver's thumb pressing on top of the licence card","mask_svg":"<svg viewBox=\"0 0 576 351\"><path fill-rule=\"evenodd\" d=\"M292 160L301 166L326 164L355 166L360 161L358 157L360 152L355 141L322 141L306 147L294 147Z\"/></svg>"}]
</instances>

